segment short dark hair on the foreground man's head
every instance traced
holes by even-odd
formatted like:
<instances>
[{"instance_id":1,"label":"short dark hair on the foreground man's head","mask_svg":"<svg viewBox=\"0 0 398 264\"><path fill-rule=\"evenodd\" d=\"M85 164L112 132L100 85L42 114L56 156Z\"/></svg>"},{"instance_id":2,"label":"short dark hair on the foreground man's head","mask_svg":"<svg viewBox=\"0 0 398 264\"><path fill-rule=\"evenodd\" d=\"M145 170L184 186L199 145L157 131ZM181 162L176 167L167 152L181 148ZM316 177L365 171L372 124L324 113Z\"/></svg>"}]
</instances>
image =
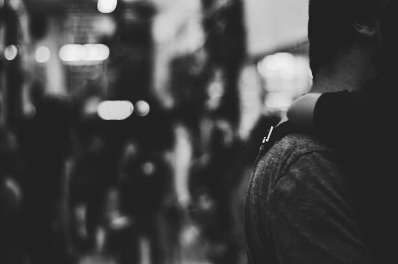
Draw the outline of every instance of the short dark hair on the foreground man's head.
<instances>
[{"instance_id":1,"label":"short dark hair on the foreground man's head","mask_svg":"<svg viewBox=\"0 0 398 264\"><path fill-rule=\"evenodd\" d=\"M315 77L319 67L350 47L356 38L352 26L358 7L377 13L381 0L310 0L308 39L310 67Z\"/></svg>"}]
</instances>

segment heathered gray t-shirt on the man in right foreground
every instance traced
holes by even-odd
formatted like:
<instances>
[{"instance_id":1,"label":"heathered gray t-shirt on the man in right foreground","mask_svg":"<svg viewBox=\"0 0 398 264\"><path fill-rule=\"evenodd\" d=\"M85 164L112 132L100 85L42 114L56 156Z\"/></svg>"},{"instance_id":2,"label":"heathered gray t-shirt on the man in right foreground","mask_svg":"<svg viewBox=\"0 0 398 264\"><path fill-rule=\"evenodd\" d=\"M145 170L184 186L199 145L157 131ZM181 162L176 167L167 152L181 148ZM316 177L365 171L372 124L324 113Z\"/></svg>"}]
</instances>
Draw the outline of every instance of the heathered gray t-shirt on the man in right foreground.
<instances>
[{"instance_id":1,"label":"heathered gray t-shirt on the man in right foreground","mask_svg":"<svg viewBox=\"0 0 398 264\"><path fill-rule=\"evenodd\" d=\"M316 137L300 133L259 157L244 209L250 264L371 263L343 168Z\"/></svg>"}]
</instances>

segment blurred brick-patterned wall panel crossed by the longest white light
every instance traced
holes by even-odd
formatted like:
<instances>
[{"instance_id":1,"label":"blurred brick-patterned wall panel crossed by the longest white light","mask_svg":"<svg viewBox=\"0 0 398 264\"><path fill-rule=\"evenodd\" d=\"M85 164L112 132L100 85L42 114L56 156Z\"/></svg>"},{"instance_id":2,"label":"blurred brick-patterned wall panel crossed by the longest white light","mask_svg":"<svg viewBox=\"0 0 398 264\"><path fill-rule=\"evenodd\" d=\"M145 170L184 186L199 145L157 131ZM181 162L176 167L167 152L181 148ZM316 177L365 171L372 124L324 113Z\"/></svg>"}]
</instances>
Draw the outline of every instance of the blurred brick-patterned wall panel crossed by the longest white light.
<instances>
[{"instance_id":1,"label":"blurred brick-patterned wall panel crossed by the longest white light","mask_svg":"<svg viewBox=\"0 0 398 264\"><path fill-rule=\"evenodd\" d=\"M109 15L92 5L71 5L64 22L64 46L59 58L67 70L70 93L81 96L91 90L106 91L106 64L110 50L100 44L102 37L112 35L116 23Z\"/></svg>"}]
</instances>

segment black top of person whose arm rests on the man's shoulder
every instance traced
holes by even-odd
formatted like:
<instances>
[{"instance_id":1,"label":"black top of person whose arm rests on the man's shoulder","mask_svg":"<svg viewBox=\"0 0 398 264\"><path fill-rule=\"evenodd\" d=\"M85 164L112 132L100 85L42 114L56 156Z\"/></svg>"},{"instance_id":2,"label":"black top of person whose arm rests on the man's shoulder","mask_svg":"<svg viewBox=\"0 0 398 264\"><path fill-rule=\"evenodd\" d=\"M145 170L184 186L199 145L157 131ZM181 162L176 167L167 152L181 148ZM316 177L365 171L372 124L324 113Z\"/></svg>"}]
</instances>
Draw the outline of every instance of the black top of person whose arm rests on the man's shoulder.
<instances>
[{"instance_id":1,"label":"black top of person whose arm rests on the man's shoulder","mask_svg":"<svg viewBox=\"0 0 398 264\"><path fill-rule=\"evenodd\" d=\"M314 111L316 135L339 152L355 183L359 224L376 263L396 258L396 91L375 78L358 91L322 94Z\"/></svg>"}]
</instances>

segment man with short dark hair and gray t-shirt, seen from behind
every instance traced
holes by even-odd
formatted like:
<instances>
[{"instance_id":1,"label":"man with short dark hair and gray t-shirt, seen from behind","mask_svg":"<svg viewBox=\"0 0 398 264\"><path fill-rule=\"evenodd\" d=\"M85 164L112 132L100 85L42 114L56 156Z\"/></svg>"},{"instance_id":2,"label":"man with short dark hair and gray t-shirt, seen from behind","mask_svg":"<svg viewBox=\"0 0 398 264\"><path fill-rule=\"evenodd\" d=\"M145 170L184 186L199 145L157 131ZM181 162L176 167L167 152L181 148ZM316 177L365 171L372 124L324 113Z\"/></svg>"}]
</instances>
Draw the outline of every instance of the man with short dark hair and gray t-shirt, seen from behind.
<instances>
[{"instance_id":1,"label":"man with short dark hair and gray t-shirt, seen from behind","mask_svg":"<svg viewBox=\"0 0 398 264\"><path fill-rule=\"evenodd\" d=\"M379 15L388 2L310 0L312 93L372 86L381 71ZM353 146L360 147L359 140ZM245 197L249 263L379 262L376 244L385 241L374 238L386 229L366 221L380 210L366 210L377 200L356 187L366 172L366 163L356 166L360 158L351 162L333 144L304 133L291 133L259 155Z\"/></svg>"}]
</instances>

